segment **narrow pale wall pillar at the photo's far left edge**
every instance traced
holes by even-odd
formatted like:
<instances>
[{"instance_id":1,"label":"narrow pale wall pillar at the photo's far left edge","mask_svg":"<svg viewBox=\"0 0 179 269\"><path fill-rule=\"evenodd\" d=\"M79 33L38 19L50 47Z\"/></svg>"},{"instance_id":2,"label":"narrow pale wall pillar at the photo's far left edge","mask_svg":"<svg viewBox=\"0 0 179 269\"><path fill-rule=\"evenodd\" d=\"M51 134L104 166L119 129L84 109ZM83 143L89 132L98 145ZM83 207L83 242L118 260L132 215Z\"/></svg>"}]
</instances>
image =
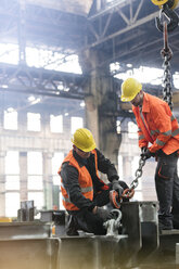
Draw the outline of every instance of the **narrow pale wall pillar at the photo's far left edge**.
<instances>
[{"instance_id":1,"label":"narrow pale wall pillar at the photo's far left edge","mask_svg":"<svg viewBox=\"0 0 179 269\"><path fill-rule=\"evenodd\" d=\"M0 216L5 216L5 155L7 152L0 152Z\"/></svg>"}]
</instances>

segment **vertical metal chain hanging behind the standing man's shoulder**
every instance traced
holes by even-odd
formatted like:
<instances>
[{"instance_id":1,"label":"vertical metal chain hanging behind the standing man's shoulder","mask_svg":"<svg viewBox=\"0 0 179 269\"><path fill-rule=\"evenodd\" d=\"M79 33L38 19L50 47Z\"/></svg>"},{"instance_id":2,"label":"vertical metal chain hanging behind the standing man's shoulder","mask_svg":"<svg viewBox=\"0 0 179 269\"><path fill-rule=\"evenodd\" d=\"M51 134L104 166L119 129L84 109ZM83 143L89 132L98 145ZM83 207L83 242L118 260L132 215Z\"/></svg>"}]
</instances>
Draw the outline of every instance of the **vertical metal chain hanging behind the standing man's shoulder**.
<instances>
[{"instance_id":1,"label":"vertical metal chain hanging behind the standing man's shoulder","mask_svg":"<svg viewBox=\"0 0 179 269\"><path fill-rule=\"evenodd\" d=\"M167 24L164 23L164 49L161 51L162 56L164 57L164 88L163 88L163 99L168 103L170 110L172 110L172 91L171 91L171 73L169 61L172 56L172 51L168 47L168 36L167 36Z\"/></svg>"}]
</instances>

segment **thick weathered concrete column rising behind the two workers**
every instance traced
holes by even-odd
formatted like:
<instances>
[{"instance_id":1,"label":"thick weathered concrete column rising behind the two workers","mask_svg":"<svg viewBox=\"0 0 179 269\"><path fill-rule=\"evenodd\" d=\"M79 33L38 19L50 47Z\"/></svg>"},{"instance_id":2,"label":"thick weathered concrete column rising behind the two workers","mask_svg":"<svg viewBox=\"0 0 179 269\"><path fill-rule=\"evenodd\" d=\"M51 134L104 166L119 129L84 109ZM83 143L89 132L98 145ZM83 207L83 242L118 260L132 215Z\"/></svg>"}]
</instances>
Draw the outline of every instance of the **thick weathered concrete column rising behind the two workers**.
<instances>
[{"instance_id":1,"label":"thick weathered concrete column rising behind the two workers","mask_svg":"<svg viewBox=\"0 0 179 269\"><path fill-rule=\"evenodd\" d=\"M102 52L87 50L79 56L82 72L87 75L86 121L95 139L97 146L116 166L122 137L116 131L117 94L113 89L110 65L101 66Z\"/></svg>"}]
</instances>

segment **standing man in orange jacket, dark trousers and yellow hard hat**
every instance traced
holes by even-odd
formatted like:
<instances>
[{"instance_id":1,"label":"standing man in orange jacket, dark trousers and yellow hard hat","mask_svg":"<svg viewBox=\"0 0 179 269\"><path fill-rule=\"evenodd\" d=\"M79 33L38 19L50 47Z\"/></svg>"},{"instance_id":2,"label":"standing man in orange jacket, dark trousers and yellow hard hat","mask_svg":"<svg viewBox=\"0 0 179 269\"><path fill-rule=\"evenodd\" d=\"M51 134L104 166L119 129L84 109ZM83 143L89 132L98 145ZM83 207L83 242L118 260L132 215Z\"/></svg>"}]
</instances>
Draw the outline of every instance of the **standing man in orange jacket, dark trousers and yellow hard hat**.
<instances>
[{"instance_id":1,"label":"standing man in orange jacket, dark trousers and yellow hard hat","mask_svg":"<svg viewBox=\"0 0 179 269\"><path fill-rule=\"evenodd\" d=\"M136 116L141 156L155 156L155 188L159 202L159 230L179 229L179 126L168 104L143 92L135 78L122 85L122 101L130 102ZM149 143L152 145L149 146Z\"/></svg>"}]
</instances>

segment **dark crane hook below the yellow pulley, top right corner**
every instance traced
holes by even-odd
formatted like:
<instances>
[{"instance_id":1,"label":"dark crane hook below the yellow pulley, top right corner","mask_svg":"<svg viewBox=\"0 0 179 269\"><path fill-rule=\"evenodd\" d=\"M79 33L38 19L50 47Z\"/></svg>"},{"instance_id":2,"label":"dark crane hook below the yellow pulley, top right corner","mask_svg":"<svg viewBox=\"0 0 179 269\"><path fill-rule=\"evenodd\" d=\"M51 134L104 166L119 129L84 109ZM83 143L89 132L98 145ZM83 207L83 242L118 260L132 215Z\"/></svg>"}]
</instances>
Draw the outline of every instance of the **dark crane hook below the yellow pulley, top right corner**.
<instances>
[{"instance_id":1,"label":"dark crane hook below the yellow pulley, top right corner","mask_svg":"<svg viewBox=\"0 0 179 269\"><path fill-rule=\"evenodd\" d=\"M155 17L155 24L156 28L161 31L164 31L164 26L162 22L163 15L169 20L169 23L167 24L167 30L172 31L175 28L177 28L179 24L179 16L178 14L171 10L167 3L162 5L162 10L159 11L159 17Z\"/></svg>"}]
</instances>

